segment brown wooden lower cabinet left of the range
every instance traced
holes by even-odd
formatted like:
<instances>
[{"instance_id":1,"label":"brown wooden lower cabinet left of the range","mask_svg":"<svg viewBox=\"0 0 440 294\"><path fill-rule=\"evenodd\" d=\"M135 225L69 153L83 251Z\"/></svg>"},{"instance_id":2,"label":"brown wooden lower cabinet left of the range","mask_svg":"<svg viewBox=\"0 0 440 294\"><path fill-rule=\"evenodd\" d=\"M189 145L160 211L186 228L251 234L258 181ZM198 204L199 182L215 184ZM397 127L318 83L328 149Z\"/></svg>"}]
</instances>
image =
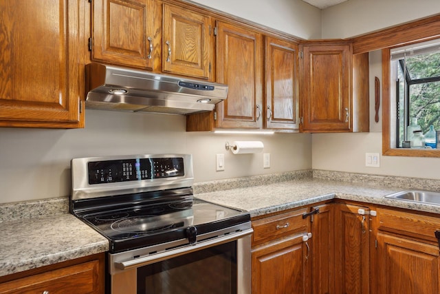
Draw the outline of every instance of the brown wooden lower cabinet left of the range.
<instances>
[{"instance_id":1,"label":"brown wooden lower cabinet left of the range","mask_svg":"<svg viewBox=\"0 0 440 294\"><path fill-rule=\"evenodd\" d=\"M104 268L104 253L44 266L0 277L0 293L104 293Z\"/></svg>"}]
</instances>

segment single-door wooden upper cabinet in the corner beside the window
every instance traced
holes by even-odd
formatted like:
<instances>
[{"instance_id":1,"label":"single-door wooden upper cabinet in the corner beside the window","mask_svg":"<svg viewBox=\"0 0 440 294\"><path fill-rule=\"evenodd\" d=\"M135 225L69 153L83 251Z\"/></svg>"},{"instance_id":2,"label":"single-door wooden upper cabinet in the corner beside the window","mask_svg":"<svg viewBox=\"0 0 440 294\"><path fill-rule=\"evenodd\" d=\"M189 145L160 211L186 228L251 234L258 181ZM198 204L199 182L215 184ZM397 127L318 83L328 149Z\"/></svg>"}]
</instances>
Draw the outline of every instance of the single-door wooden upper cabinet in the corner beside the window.
<instances>
[{"instance_id":1,"label":"single-door wooden upper cabinet in the corner beside the window","mask_svg":"<svg viewBox=\"0 0 440 294\"><path fill-rule=\"evenodd\" d=\"M303 52L303 132L369 132L368 54L351 43L311 42Z\"/></svg>"}]
</instances>

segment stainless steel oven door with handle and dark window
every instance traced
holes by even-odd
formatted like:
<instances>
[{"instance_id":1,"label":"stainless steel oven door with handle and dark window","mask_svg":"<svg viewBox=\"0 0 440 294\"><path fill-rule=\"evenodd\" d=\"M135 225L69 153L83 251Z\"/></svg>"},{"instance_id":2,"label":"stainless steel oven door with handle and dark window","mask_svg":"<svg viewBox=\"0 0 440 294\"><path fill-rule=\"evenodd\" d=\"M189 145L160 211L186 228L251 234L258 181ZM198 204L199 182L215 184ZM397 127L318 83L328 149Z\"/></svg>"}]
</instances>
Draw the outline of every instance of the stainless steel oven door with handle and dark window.
<instances>
[{"instance_id":1,"label":"stainless steel oven door with handle and dark window","mask_svg":"<svg viewBox=\"0 0 440 294\"><path fill-rule=\"evenodd\" d=\"M112 294L250 294L252 229L126 261L109 254ZM126 253L125 253L126 254Z\"/></svg>"}]
</instances>

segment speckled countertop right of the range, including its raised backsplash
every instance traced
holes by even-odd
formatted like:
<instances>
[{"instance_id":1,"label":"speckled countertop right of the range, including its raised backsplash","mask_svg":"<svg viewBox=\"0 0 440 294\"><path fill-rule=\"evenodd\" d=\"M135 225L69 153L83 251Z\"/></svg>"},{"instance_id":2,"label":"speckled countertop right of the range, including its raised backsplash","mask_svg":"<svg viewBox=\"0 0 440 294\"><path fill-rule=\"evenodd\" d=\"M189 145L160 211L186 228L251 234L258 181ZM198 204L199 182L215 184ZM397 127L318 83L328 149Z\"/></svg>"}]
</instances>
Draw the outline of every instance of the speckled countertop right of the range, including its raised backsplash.
<instances>
[{"instance_id":1,"label":"speckled countertop right of the range, including its raised backsplash","mask_svg":"<svg viewBox=\"0 0 440 294\"><path fill-rule=\"evenodd\" d=\"M225 189L228 186L234 189ZM437 205L384 198L406 189L440 191L440 180L307 170L201 182L194 187L197 198L244 209L251 217L333 198L440 213Z\"/></svg>"}]
</instances>

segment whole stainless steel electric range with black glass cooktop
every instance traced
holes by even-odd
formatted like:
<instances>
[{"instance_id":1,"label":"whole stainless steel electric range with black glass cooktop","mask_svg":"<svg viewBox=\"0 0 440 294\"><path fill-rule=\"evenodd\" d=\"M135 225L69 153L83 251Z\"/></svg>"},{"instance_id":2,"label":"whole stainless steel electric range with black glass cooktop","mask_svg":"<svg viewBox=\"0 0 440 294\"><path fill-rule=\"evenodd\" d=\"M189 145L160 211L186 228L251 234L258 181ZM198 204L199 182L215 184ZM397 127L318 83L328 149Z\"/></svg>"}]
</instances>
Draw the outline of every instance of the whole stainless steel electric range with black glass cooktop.
<instances>
[{"instance_id":1,"label":"whole stainless steel electric range with black glass cooktop","mask_svg":"<svg viewBox=\"0 0 440 294\"><path fill-rule=\"evenodd\" d=\"M192 156L74 158L71 212L104 235L108 293L250 293L250 215L194 198Z\"/></svg>"}]
</instances>

